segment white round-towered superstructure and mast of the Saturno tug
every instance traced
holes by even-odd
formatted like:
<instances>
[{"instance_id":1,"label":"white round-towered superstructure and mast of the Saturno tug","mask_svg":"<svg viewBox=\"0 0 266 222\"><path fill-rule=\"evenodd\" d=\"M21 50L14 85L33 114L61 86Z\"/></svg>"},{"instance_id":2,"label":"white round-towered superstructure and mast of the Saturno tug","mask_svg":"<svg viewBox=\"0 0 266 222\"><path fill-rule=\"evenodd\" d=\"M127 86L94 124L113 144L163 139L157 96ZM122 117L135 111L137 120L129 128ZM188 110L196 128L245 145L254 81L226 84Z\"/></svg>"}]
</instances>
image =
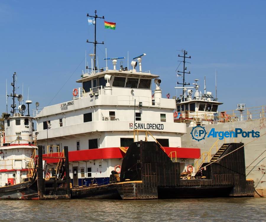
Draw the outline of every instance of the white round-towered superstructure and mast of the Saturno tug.
<instances>
[{"instance_id":1,"label":"white round-towered superstructure and mast of the Saturno tug","mask_svg":"<svg viewBox=\"0 0 266 222\"><path fill-rule=\"evenodd\" d=\"M15 100L22 102L22 95L15 93L15 75L13 74L13 103L11 115L4 115L4 131L1 131L0 147L0 186L9 186L28 181L30 168L34 168L32 162L35 155L36 136L33 136L33 117L29 111L25 115L26 106L19 105L16 109ZM29 110L30 100L26 101ZM19 195L19 194L18 194ZM0 198L1 194L0 194Z\"/></svg>"}]
</instances>

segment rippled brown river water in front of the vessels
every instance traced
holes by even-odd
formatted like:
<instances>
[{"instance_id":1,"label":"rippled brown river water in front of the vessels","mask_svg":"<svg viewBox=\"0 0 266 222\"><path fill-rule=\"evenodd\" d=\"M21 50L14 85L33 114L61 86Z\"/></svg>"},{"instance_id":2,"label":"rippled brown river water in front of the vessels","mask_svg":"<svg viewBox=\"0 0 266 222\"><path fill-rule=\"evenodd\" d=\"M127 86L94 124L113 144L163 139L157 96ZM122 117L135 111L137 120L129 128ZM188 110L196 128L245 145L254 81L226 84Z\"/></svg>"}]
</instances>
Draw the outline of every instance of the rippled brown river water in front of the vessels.
<instances>
[{"instance_id":1,"label":"rippled brown river water in front of the vessels","mask_svg":"<svg viewBox=\"0 0 266 222\"><path fill-rule=\"evenodd\" d=\"M0 221L266 221L266 198L0 200Z\"/></svg>"}]
</instances>

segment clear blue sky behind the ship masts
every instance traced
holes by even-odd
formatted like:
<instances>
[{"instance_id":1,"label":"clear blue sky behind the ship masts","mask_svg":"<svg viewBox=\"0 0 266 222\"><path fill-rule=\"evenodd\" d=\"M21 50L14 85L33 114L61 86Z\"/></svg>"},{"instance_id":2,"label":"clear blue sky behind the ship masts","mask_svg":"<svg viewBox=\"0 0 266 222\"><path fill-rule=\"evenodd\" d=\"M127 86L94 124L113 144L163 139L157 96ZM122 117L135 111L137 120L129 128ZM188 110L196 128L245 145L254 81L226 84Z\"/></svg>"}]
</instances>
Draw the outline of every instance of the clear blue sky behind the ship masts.
<instances>
[{"instance_id":1,"label":"clear blue sky behind the ship masts","mask_svg":"<svg viewBox=\"0 0 266 222\"><path fill-rule=\"evenodd\" d=\"M99 66L105 66L105 47L108 57L127 57L129 51L130 61L146 53L142 69L160 75L163 96L173 96L181 81L175 72L178 50L185 49L192 57L186 82L200 79L203 91L206 75L207 91L214 93L217 70L218 98L224 102L220 110L236 109L238 103L265 105L265 8L265 1L2 0L0 112L5 111L6 79L10 93L13 72L17 93L23 83L24 97L29 87L29 99L40 107L72 99L85 69L85 50L93 53L86 39L93 40L94 26L88 26L86 14L95 9L116 22L116 30L105 30L103 20L97 20L97 40L105 42L98 45Z\"/></svg>"}]
</instances>

